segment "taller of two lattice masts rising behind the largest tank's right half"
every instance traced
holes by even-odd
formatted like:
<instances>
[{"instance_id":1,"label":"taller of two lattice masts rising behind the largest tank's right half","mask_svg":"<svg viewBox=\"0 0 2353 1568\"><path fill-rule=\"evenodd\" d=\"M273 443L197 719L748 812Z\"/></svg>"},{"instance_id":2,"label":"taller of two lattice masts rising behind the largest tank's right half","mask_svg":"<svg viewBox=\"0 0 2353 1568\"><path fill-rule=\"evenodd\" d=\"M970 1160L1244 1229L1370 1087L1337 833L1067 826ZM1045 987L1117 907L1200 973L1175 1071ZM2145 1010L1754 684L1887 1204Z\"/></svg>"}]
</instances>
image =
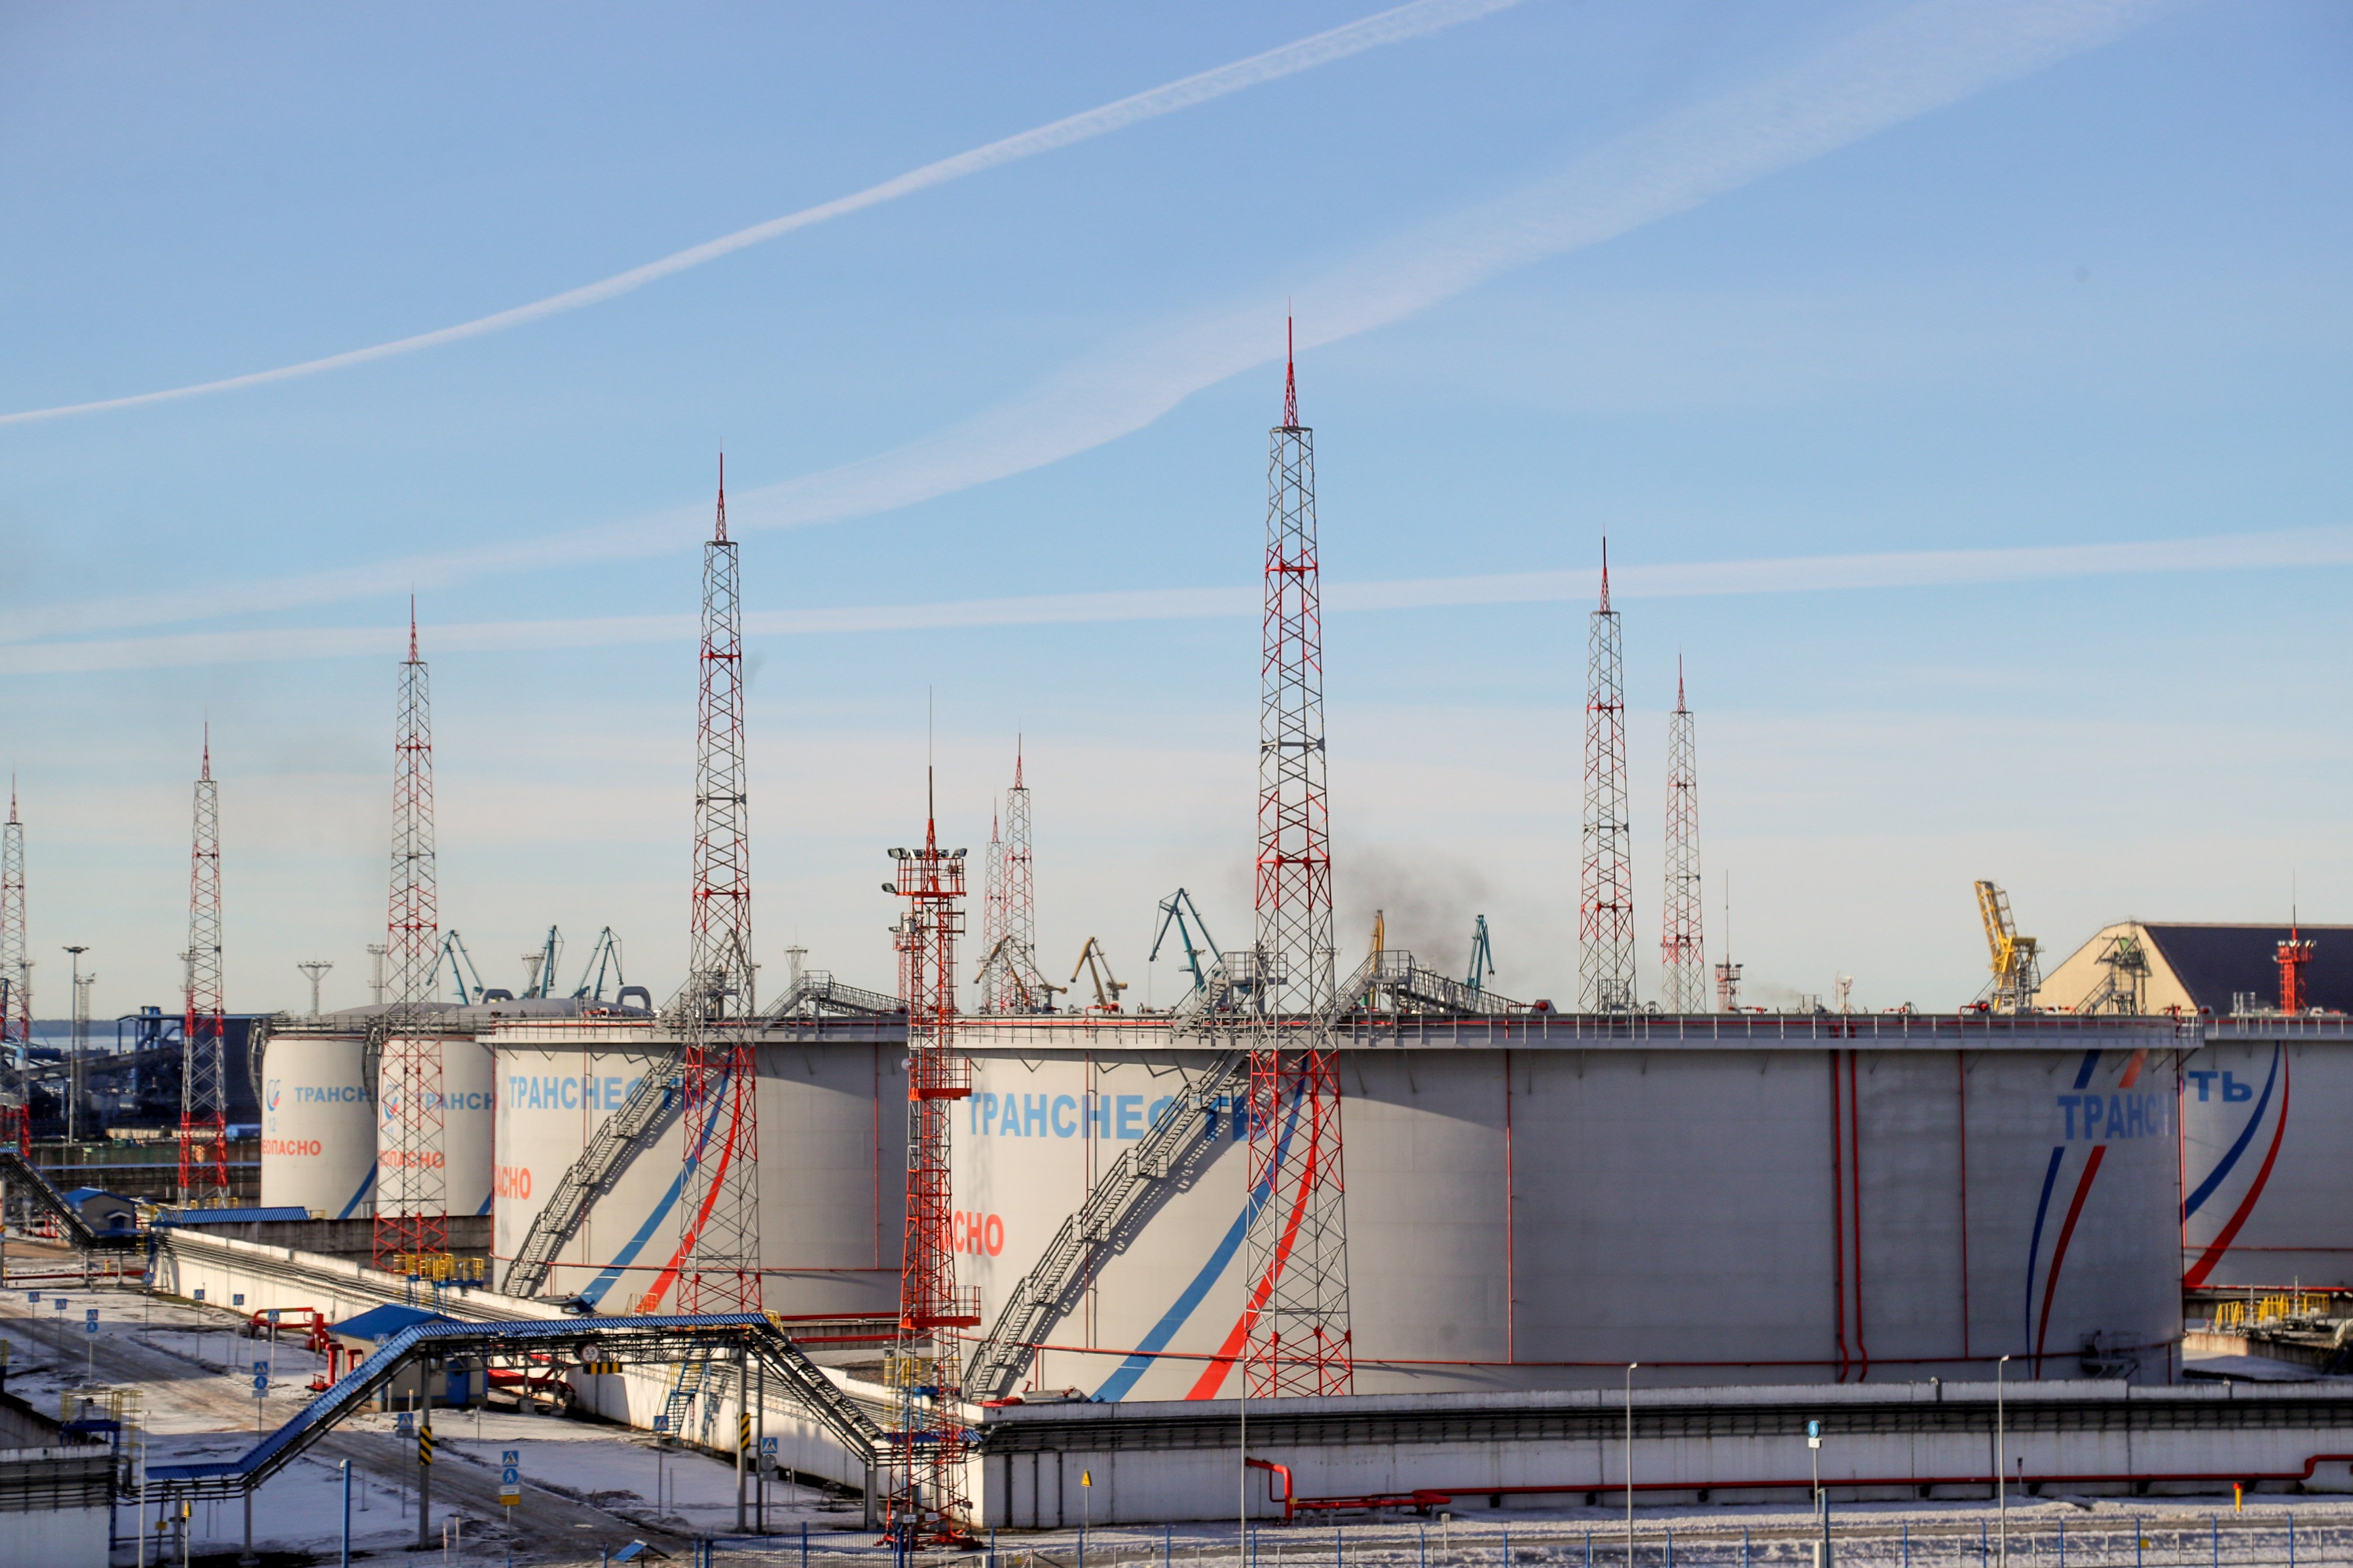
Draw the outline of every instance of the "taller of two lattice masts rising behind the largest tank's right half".
<instances>
[{"instance_id":1,"label":"taller of two lattice masts rising behind the largest tank's right half","mask_svg":"<svg viewBox=\"0 0 2353 1568\"><path fill-rule=\"evenodd\" d=\"M1619 618L1609 609L1609 541L1602 602L1586 632L1586 818L1579 879L1577 1006L1633 1011L1633 867L1626 823L1626 677Z\"/></svg>"}]
</instances>

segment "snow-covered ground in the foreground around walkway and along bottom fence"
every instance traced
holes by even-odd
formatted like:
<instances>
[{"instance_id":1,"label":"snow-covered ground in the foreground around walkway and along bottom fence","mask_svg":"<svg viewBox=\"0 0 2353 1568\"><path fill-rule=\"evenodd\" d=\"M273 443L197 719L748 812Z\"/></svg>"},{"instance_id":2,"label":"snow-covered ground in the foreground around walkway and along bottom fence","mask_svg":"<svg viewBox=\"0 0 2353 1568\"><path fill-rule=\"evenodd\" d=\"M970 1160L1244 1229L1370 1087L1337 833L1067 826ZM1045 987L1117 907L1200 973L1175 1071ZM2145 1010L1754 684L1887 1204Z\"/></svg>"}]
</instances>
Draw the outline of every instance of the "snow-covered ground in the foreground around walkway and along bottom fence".
<instances>
[{"instance_id":1,"label":"snow-covered ground in the foreground around walkway and along bottom fence","mask_svg":"<svg viewBox=\"0 0 2353 1568\"><path fill-rule=\"evenodd\" d=\"M16 1251L12 1246L12 1251ZM155 1302L132 1291L42 1286L0 1291L0 1340L9 1392L47 1413L59 1394L94 1373L99 1385L134 1387L148 1427L148 1462L235 1458L256 1425L278 1427L313 1394L320 1361L296 1342L275 1347L235 1333L226 1309ZM64 1298L64 1309L56 1300ZM87 1333L96 1307L99 1333ZM252 1366L271 1363L259 1410ZM278 1563L332 1563L344 1521L341 1462L353 1465L353 1549L376 1561L426 1563L456 1523L452 1563L598 1563L605 1552L645 1540L673 1561L692 1561L696 1537L720 1537L713 1563L798 1568L809 1530L809 1568L885 1568L889 1554L861 1528L856 1500L769 1488L767 1535L736 1537L734 1469L706 1455L659 1453L649 1436L593 1420L511 1410L435 1413L440 1462L433 1472L433 1530L416 1554L414 1441L395 1436L388 1413L360 1415L271 1479L254 1497L254 1544ZM515 1450L525 1505L513 1526L496 1505L499 1460ZM122 1509L129 1540L134 1514ZM2000 1521L1981 1502L1875 1502L1833 1509L1838 1559L1866 1568L1993 1568ZM2294 1542L2289 1542L2294 1533ZM1744 1540L1746 1535L1746 1540ZM1817 1523L1802 1507L1640 1507L1633 1568L1809 1563ZM2353 1566L2353 1497L2264 1493L2233 1514L2219 1497L2021 1500L2007 1509L2009 1561L2033 1568L2137 1568L2205 1563ZM2064 1537L2064 1540L2061 1540ZM195 1505L191 1561L226 1568L245 1540L242 1502ZM1169 1530L1024 1530L995 1535L995 1563L981 1552L936 1554L941 1568L1619 1568L1628 1563L1619 1509L1464 1509L1452 1516L1301 1519L1261 1523L1247 1556L1226 1526ZM176 1561L176 1552L172 1554ZM927 1554L929 1556L929 1554ZM0 1552L5 1559L5 1552ZM125 1561L129 1561L125 1556ZM155 1561L151 1556L151 1561ZM647 1559L652 1561L652 1559Z\"/></svg>"}]
</instances>

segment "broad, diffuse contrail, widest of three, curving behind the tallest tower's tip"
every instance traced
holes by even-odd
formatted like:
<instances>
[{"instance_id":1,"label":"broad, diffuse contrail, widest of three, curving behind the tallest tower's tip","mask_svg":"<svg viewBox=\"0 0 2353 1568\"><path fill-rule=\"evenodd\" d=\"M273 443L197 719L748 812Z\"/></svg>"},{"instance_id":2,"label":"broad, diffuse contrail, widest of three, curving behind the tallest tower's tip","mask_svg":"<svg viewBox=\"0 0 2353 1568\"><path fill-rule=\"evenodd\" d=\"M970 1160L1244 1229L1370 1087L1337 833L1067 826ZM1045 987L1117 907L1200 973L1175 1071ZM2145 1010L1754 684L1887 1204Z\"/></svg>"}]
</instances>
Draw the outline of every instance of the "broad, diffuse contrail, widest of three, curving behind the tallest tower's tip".
<instances>
[{"instance_id":1,"label":"broad, diffuse contrail, widest of three, curving behind the tallest tower's tip","mask_svg":"<svg viewBox=\"0 0 2353 1568\"><path fill-rule=\"evenodd\" d=\"M1299 292L1301 339L1386 327L1511 270L1612 240L2104 45L2179 0L1922 0L1758 85L1668 113L1558 174L1407 230ZM1195 317L1089 355L1031 393L918 442L729 496L741 527L840 522L1056 463L1151 425L1193 393L1280 348L1268 308ZM233 616L405 592L468 574L626 559L689 548L708 503L553 538L402 557L318 574L52 604L0 614L0 639L141 621ZM233 632L242 635L242 632ZM304 632L308 635L308 632Z\"/></svg>"}]
</instances>

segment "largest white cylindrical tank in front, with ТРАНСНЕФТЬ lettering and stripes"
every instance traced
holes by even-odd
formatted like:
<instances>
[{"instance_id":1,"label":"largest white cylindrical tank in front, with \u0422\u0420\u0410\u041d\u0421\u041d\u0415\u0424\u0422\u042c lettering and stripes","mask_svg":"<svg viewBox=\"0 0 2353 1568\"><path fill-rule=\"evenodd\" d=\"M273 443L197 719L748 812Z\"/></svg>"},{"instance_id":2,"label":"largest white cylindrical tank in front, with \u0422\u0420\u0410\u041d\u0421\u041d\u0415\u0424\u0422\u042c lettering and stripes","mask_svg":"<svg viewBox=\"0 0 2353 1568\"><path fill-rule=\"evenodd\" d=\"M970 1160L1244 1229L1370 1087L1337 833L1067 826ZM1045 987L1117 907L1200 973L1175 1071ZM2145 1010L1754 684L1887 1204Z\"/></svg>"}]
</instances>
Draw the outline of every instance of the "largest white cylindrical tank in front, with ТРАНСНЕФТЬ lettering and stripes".
<instances>
[{"instance_id":1,"label":"largest white cylindrical tank in front, with \u0422\u0420\u0410\u041d\u0421\u041d\u0415\u0424\u0422\u042c lettering and stripes","mask_svg":"<svg viewBox=\"0 0 2353 1568\"><path fill-rule=\"evenodd\" d=\"M1233 1389L1252 1206L1162 1020L967 1020L960 1284L984 1324L1113 1161L1195 1128L1101 1239L1026 1387ZM2172 1034L2120 1020L1407 1020L1339 1051L1358 1392L2129 1375L2181 1326ZM1287 1110L1275 1138L1294 1135ZM1289 1284L1297 1284L1292 1274Z\"/></svg>"}]
</instances>

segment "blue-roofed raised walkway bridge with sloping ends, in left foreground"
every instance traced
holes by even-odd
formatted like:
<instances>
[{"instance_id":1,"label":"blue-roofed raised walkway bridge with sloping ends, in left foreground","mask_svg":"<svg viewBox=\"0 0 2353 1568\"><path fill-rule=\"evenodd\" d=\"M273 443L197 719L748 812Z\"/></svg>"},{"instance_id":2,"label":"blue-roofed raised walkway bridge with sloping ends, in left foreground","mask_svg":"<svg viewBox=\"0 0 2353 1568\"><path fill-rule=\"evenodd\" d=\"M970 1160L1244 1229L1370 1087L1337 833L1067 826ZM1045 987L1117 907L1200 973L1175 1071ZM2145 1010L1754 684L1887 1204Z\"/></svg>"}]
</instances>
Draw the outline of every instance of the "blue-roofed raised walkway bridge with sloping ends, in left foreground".
<instances>
[{"instance_id":1,"label":"blue-roofed raised walkway bridge with sloping ends, in left foreground","mask_svg":"<svg viewBox=\"0 0 2353 1568\"><path fill-rule=\"evenodd\" d=\"M572 1354L576 1361L666 1363L741 1352L845 1448L873 1455L882 1429L838 1389L784 1328L758 1312L725 1316L607 1316L555 1324L414 1324L360 1361L301 1415L235 1460L153 1465L148 1497L233 1497L289 1465L341 1420L367 1408L400 1368L445 1356Z\"/></svg>"}]
</instances>

